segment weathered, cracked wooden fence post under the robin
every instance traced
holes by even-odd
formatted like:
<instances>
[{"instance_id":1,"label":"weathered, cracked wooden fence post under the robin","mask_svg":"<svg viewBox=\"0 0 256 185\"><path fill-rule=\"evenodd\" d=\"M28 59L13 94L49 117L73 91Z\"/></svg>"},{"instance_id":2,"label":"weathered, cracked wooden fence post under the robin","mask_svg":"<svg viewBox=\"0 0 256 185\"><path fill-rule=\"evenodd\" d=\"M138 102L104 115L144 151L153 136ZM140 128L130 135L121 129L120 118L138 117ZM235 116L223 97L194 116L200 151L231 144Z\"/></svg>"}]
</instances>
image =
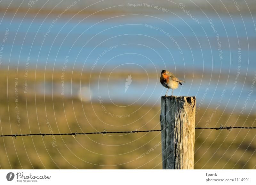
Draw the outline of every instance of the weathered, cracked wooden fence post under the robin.
<instances>
[{"instance_id":1,"label":"weathered, cracked wooden fence post under the robin","mask_svg":"<svg viewBox=\"0 0 256 185\"><path fill-rule=\"evenodd\" d=\"M161 97L163 169L194 169L196 97Z\"/></svg>"}]
</instances>

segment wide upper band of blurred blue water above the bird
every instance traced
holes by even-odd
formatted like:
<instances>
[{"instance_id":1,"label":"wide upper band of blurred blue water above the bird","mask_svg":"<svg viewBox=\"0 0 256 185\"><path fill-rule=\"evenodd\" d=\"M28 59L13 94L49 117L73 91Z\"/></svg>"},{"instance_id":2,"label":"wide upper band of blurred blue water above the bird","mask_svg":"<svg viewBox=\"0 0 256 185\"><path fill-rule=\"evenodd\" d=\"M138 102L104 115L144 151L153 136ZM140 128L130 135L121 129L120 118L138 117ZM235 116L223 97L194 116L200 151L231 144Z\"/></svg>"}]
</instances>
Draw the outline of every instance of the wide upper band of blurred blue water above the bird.
<instances>
[{"instance_id":1,"label":"wide upper band of blurred blue water above the bird","mask_svg":"<svg viewBox=\"0 0 256 185\"><path fill-rule=\"evenodd\" d=\"M19 61L19 67L24 67L29 56L31 67L37 62L40 66L52 68L55 63L58 69L62 68L68 56L69 69L84 66L84 70L90 70L100 53L116 45L116 49L100 57L95 70L101 70L107 62L104 68L109 69L132 62L142 67L152 63L159 69L166 65L167 68L184 70L236 70L237 65L233 63L237 61L238 48L242 48L243 72L247 71L248 66L249 72L254 72L256 66L252 60L256 57L255 25L250 17L232 17L234 24L228 16L221 19L217 16L209 17L219 34L222 60L216 33L206 17L199 18L201 25L185 16L182 19L122 16L105 21L83 20L81 17L69 20L61 17L53 24L55 18L44 20L43 17L34 19L27 16L23 19L15 16L12 20L12 17L5 16L0 26L0 41L6 28L10 31L4 46L2 60L5 62L2 66L6 67L10 59L12 66L16 67ZM45 38L51 24L52 28ZM150 29L145 24L156 26L159 30ZM161 29L166 33L161 32ZM179 44L181 50L168 38L167 33ZM152 67L150 69L154 70Z\"/></svg>"}]
</instances>

